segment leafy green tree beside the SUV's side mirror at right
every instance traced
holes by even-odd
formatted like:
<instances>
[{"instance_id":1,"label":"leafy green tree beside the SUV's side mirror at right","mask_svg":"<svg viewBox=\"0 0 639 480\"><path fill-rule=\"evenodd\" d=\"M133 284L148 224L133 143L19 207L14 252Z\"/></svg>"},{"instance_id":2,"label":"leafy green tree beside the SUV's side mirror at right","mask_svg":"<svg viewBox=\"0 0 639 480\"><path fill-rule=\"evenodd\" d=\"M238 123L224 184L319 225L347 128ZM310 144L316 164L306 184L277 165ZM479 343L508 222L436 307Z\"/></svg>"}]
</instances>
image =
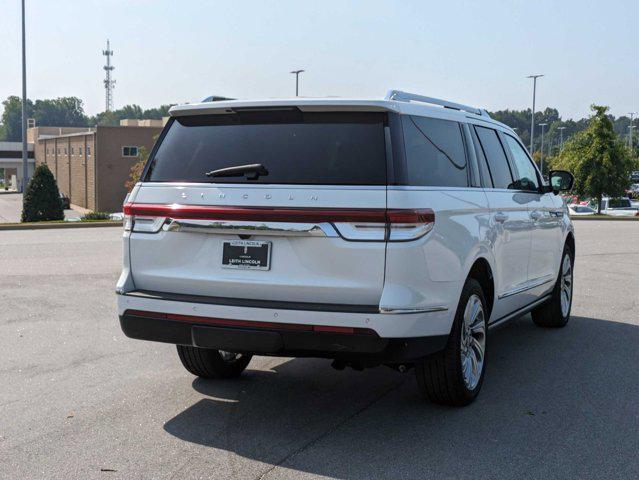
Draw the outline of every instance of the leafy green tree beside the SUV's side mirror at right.
<instances>
[{"instance_id":1,"label":"leafy green tree beside the SUV's side mirror at right","mask_svg":"<svg viewBox=\"0 0 639 480\"><path fill-rule=\"evenodd\" d=\"M597 210L601 213L602 197L624 195L630 173L637 167L630 149L614 132L606 113L608 107L592 105L591 109L588 127L571 137L550 160L554 169L572 172L575 193L597 199Z\"/></svg>"}]
</instances>

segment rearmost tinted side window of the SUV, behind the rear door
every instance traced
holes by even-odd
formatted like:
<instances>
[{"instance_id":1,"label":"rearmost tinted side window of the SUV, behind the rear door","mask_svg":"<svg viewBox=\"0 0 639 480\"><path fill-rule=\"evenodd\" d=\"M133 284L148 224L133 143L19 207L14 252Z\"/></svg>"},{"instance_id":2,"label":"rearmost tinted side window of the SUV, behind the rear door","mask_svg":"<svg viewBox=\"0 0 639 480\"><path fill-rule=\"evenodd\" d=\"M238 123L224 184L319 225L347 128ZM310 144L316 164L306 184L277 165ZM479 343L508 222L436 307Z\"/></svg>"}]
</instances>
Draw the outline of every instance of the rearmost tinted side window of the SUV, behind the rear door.
<instances>
[{"instance_id":1,"label":"rearmost tinted side window of the SUV, behind the rear door","mask_svg":"<svg viewBox=\"0 0 639 480\"><path fill-rule=\"evenodd\" d=\"M468 186L466 151L457 122L406 116L403 127L409 185Z\"/></svg>"}]
</instances>

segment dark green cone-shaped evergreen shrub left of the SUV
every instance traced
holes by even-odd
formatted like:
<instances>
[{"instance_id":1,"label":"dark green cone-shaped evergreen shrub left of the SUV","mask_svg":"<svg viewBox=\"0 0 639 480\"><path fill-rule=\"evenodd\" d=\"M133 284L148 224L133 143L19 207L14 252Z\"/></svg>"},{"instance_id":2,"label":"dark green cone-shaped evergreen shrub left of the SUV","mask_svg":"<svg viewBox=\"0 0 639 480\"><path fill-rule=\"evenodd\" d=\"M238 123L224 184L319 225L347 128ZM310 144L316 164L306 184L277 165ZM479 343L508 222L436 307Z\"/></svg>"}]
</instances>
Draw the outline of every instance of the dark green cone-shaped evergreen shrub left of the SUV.
<instances>
[{"instance_id":1,"label":"dark green cone-shaped evergreen shrub left of the SUV","mask_svg":"<svg viewBox=\"0 0 639 480\"><path fill-rule=\"evenodd\" d=\"M24 191L23 222L64 220L58 185L46 164L38 165Z\"/></svg>"}]
</instances>

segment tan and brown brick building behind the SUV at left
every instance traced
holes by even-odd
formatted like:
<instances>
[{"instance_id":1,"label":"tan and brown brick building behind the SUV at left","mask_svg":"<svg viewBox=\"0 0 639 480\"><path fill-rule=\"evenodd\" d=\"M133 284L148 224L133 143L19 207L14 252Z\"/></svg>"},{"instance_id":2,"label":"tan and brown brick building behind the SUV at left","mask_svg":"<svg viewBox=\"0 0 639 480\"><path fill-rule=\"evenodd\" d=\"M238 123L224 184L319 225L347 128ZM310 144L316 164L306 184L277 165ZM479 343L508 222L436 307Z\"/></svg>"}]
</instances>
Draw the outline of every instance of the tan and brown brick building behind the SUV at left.
<instances>
[{"instance_id":1,"label":"tan and brown brick building behind the SUV at left","mask_svg":"<svg viewBox=\"0 0 639 480\"><path fill-rule=\"evenodd\" d=\"M36 127L50 128L50 127ZM138 161L140 147L149 151L160 126L98 126L80 131L32 133L36 164L46 163L60 192L71 203L99 212L119 212L127 190L124 182ZM37 140L36 140L37 139Z\"/></svg>"}]
</instances>

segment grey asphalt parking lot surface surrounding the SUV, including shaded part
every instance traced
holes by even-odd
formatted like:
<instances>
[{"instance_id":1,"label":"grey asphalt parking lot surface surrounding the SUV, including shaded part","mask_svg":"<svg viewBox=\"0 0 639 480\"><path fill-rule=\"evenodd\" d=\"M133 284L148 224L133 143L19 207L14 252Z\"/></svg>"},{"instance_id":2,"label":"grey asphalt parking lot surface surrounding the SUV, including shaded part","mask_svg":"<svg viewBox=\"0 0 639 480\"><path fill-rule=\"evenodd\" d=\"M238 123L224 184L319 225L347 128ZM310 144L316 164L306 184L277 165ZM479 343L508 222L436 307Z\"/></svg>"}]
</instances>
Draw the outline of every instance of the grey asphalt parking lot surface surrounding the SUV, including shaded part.
<instances>
[{"instance_id":1,"label":"grey asphalt parking lot surface surrounding the SUV, including shaded part","mask_svg":"<svg viewBox=\"0 0 639 480\"><path fill-rule=\"evenodd\" d=\"M119 228L0 234L0 478L639 478L639 223L575 222L573 318L493 332L479 399L254 358L202 381L115 313Z\"/></svg>"}]
</instances>

